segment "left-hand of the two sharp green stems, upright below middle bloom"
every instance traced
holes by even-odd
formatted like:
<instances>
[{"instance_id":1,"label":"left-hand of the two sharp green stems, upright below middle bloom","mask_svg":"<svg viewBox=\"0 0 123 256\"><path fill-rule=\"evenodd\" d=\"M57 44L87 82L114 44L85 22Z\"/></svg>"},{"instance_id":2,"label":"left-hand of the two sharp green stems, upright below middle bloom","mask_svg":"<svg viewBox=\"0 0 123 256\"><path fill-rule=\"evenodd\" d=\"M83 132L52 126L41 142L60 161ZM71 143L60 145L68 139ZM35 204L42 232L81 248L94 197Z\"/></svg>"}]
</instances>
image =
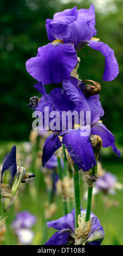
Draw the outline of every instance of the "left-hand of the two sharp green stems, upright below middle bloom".
<instances>
[{"instance_id":1,"label":"left-hand of the two sharp green stems, upright below middle bloom","mask_svg":"<svg viewBox=\"0 0 123 256\"><path fill-rule=\"evenodd\" d=\"M78 228L77 217L81 215L81 205L80 205L80 172L73 171L74 180L74 202L75 202L75 229Z\"/></svg>"}]
</instances>

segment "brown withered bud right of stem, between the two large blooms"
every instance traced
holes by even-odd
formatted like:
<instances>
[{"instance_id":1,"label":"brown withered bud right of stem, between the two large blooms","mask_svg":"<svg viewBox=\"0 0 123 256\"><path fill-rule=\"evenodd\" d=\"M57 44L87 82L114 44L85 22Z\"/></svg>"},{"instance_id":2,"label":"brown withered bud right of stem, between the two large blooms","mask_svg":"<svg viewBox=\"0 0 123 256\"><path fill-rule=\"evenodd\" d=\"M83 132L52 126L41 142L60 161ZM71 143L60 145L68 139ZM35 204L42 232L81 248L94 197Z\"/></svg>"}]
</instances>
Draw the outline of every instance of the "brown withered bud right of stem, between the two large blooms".
<instances>
[{"instance_id":1,"label":"brown withered bud right of stem, between the two large blooms","mask_svg":"<svg viewBox=\"0 0 123 256\"><path fill-rule=\"evenodd\" d=\"M86 97L99 94L101 90L101 86L98 82L94 82L92 80L84 80L83 82L92 83L92 84L91 83L85 84L85 87L83 87L83 93L85 94Z\"/></svg>"}]
</instances>

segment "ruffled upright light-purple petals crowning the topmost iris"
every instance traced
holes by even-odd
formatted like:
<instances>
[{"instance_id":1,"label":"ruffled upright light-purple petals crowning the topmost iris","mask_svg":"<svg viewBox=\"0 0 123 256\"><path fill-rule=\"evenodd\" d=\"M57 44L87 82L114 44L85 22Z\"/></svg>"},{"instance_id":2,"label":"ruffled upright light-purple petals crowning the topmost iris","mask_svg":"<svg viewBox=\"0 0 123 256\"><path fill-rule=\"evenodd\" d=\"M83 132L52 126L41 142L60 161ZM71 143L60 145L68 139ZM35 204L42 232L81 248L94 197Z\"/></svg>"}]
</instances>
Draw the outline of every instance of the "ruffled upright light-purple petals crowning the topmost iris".
<instances>
[{"instance_id":1,"label":"ruffled upright light-purple petals crowning the topmost iris","mask_svg":"<svg viewBox=\"0 0 123 256\"><path fill-rule=\"evenodd\" d=\"M67 9L54 15L53 20L46 20L48 39L62 39L72 42L75 49L83 40L90 40L96 35L95 11L91 4L89 9Z\"/></svg>"}]
</instances>

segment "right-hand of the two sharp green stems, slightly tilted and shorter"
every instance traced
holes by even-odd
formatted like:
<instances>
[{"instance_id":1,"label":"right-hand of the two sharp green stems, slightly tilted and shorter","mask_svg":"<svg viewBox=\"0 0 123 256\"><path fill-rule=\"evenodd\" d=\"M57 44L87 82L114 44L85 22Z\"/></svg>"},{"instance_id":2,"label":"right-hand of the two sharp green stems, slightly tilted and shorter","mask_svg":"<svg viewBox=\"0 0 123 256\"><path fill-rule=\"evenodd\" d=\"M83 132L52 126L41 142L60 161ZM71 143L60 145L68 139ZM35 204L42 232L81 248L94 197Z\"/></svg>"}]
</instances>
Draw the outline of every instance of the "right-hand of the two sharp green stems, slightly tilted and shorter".
<instances>
[{"instance_id":1,"label":"right-hand of the two sharp green stems, slightly tilted and shorter","mask_svg":"<svg viewBox=\"0 0 123 256\"><path fill-rule=\"evenodd\" d=\"M93 194L93 186L89 187L88 186L88 199L87 199L87 210L86 210L86 221L90 220L90 212L92 208L92 194Z\"/></svg>"}]
</instances>

